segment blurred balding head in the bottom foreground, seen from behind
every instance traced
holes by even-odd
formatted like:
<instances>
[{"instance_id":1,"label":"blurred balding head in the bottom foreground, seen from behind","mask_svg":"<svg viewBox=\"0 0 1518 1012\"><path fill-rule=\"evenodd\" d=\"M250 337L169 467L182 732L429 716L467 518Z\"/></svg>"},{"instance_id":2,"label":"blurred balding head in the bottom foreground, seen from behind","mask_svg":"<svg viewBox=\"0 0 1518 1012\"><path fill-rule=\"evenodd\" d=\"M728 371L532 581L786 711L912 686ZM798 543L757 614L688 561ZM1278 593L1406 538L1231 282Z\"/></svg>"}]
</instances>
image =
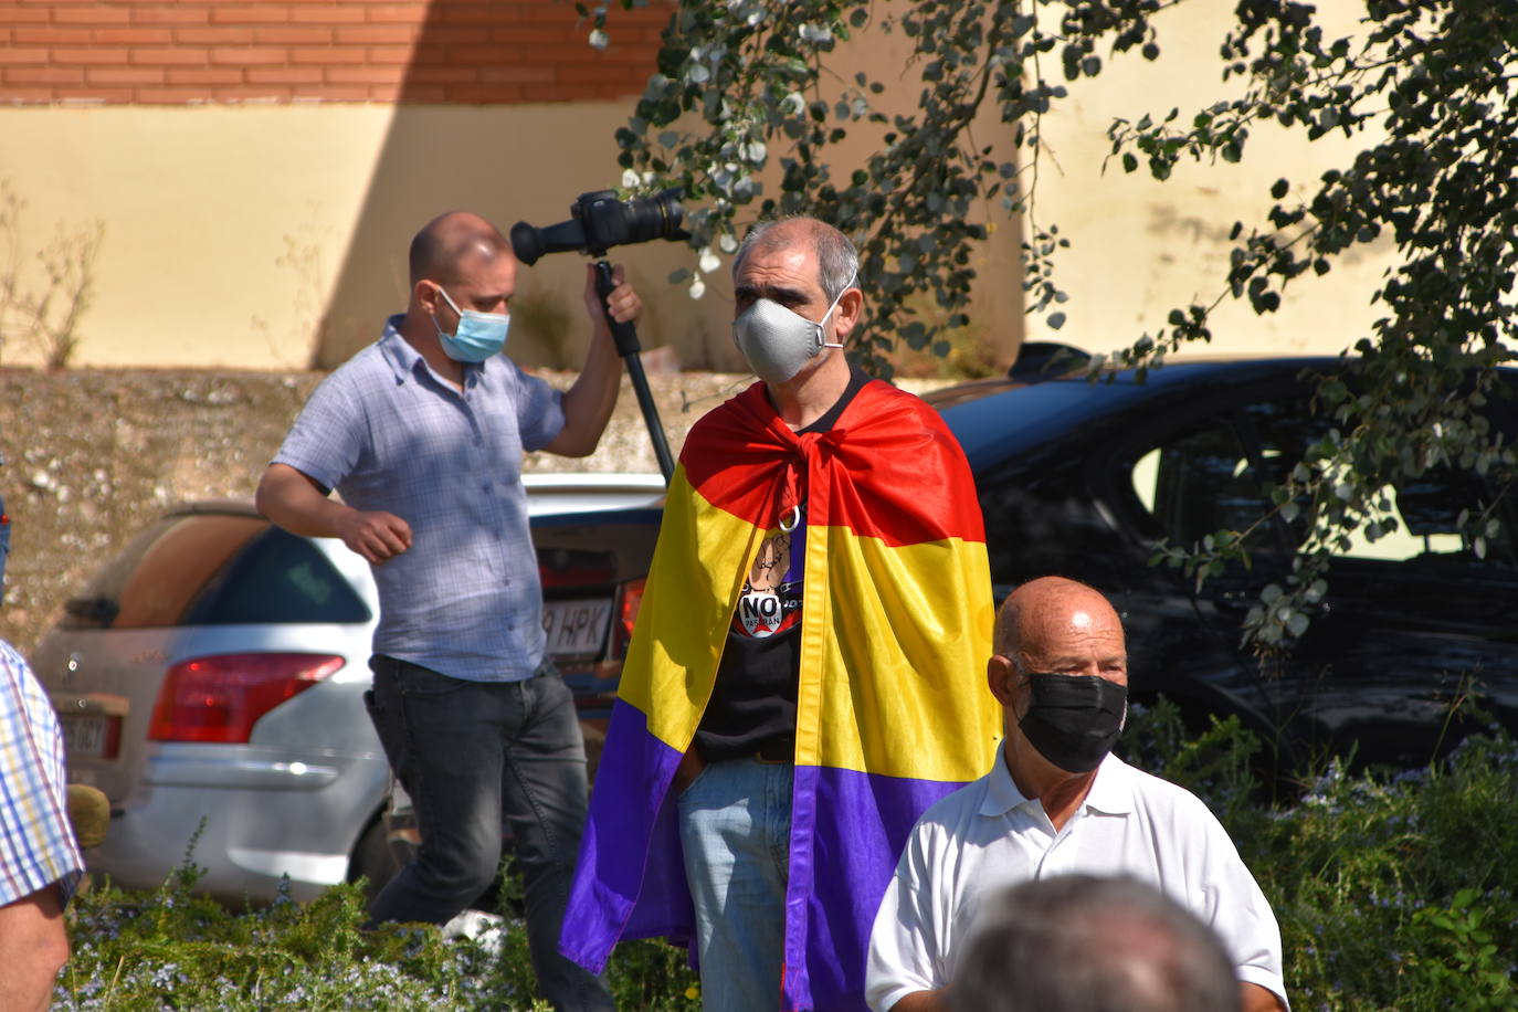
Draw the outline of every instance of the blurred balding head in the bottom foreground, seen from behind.
<instances>
[{"instance_id":1,"label":"blurred balding head in the bottom foreground, seen from behind","mask_svg":"<svg viewBox=\"0 0 1518 1012\"><path fill-rule=\"evenodd\" d=\"M1237 1012L1217 936L1135 878L1060 875L988 897L952 1012Z\"/></svg>"}]
</instances>

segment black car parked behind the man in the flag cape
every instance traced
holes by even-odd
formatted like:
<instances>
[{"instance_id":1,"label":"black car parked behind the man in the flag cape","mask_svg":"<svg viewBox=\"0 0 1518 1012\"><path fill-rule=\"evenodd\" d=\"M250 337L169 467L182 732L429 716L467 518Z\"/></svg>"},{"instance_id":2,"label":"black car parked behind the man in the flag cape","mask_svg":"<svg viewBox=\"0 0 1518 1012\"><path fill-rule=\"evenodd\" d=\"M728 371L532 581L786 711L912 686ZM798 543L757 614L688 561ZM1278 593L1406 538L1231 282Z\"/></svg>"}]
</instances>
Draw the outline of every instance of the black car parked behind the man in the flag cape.
<instances>
[{"instance_id":1,"label":"black car parked behind the man in the flag cape","mask_svg":"<svg viewBox=\"0 0 1518 1012\"><path fill-rule=\"evenodd\" d=\"M1324 754L1415 766L1457 740L1475 693L1518 730L1518 508L1463 472L1394 489L1400 531L1357 539L1328 570L1328 595L1293 651L1260 660L1242 643L1260 590L1290 567L1298 533L1258 525L1251 567L1198 589L1151 564L1157 543L1190 546L1246 530L1328 423L1307 376L1333 358L1189 361L1088 382L1008 378L937 391L975 470L997 598L1058 574L1104 590L1123 614L1131 692L1164 693L1204 725L1239 715L1280 769ZM1494 429L1518 437L1518 370L1500 370ZM1457 517L1497 502L1501 530L1485 554ZM1480 718L1475 718L1480 719Z\"/></svg>"}]
</instances>

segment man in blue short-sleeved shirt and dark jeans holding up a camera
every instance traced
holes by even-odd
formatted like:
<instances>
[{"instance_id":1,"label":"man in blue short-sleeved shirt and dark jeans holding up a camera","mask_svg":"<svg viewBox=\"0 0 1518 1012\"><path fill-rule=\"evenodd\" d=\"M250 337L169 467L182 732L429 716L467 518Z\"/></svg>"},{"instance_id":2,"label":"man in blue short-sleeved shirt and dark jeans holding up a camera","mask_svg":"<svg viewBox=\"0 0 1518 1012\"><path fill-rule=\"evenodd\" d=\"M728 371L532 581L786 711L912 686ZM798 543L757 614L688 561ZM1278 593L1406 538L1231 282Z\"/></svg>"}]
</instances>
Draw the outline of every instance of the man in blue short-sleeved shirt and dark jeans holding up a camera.
<instances>
[{"instance_id":1,"label":"man in blue short-sleeved shirt and dark jeans holding up a camera","mask_svg":"<svg viewBox=\"0 0 1518 1012\"><path fill-rule=\"evenodd\" d=\"M572 695L545 658L521 464L524 451L584 457L600 442L621 382L607 311L641 311L613 279L604 310L587 267L591 349L560 393L498 354L516 288L510 244L475 214L433 220L411 241L405 313L311 394L257 496L279 526L340 537L373 566L366 699L422 841L370 919L449 921L490 885L504 818L533 968L556 1009L612 1000L557 951L586 760Z\"/></svg>"}]
</instances>

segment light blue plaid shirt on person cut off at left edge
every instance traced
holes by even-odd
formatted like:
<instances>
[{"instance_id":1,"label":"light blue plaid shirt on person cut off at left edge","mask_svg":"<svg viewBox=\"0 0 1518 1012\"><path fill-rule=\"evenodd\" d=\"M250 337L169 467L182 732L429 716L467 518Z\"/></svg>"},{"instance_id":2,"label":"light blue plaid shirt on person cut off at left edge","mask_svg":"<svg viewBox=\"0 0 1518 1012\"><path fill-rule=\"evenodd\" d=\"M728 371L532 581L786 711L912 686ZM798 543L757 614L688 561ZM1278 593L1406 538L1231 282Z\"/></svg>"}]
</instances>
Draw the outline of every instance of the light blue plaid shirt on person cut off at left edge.
<instances>
[{"instance_id":1,"label":"light blue plaid shirt on person cut off at left edge","mask_svg":"<svg viewBox=\"0 0 1518 1012\"><path fill-rule=\"evenodd\" d=\"M26 660L0 640L0 906L55 882L64 903L73 895L85 862L67 783L58 715Z\"/></svg>"}]
</instances>

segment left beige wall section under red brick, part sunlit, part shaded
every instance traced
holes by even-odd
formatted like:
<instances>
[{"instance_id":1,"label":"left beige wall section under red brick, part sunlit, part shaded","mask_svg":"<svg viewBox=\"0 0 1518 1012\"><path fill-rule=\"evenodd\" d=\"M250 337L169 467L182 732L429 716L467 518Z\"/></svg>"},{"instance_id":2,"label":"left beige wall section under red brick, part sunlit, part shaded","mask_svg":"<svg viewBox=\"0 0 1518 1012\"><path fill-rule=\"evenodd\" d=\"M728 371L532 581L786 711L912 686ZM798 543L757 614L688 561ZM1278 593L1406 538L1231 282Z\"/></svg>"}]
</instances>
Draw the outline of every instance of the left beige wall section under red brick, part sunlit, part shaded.
<instances>
[{"instance_id":1,"label":"left beige wall section under red brick, part sunlit, part shaded","mask_svg":"<svg viewBox=\"0 0 1518 1012\"><path fill-rule=\"evenodd\" d=\"M74 364L301 369L319 340L351 352L404 306L405 246L431 215L545 225L615 185L609 138L624 118L612 102L14 108L0 109L0 179L26 200L30 249L59 226L105 225ZM663 282L686 247L613 253L648 294L645 344L700 338L721 316ZM513 332L545 364L583 347L581 259L550 256L524 278L543 316L571 320L569 352ZM6 364L38 360L0 349Z\"/></svg>"}]
</instances>

